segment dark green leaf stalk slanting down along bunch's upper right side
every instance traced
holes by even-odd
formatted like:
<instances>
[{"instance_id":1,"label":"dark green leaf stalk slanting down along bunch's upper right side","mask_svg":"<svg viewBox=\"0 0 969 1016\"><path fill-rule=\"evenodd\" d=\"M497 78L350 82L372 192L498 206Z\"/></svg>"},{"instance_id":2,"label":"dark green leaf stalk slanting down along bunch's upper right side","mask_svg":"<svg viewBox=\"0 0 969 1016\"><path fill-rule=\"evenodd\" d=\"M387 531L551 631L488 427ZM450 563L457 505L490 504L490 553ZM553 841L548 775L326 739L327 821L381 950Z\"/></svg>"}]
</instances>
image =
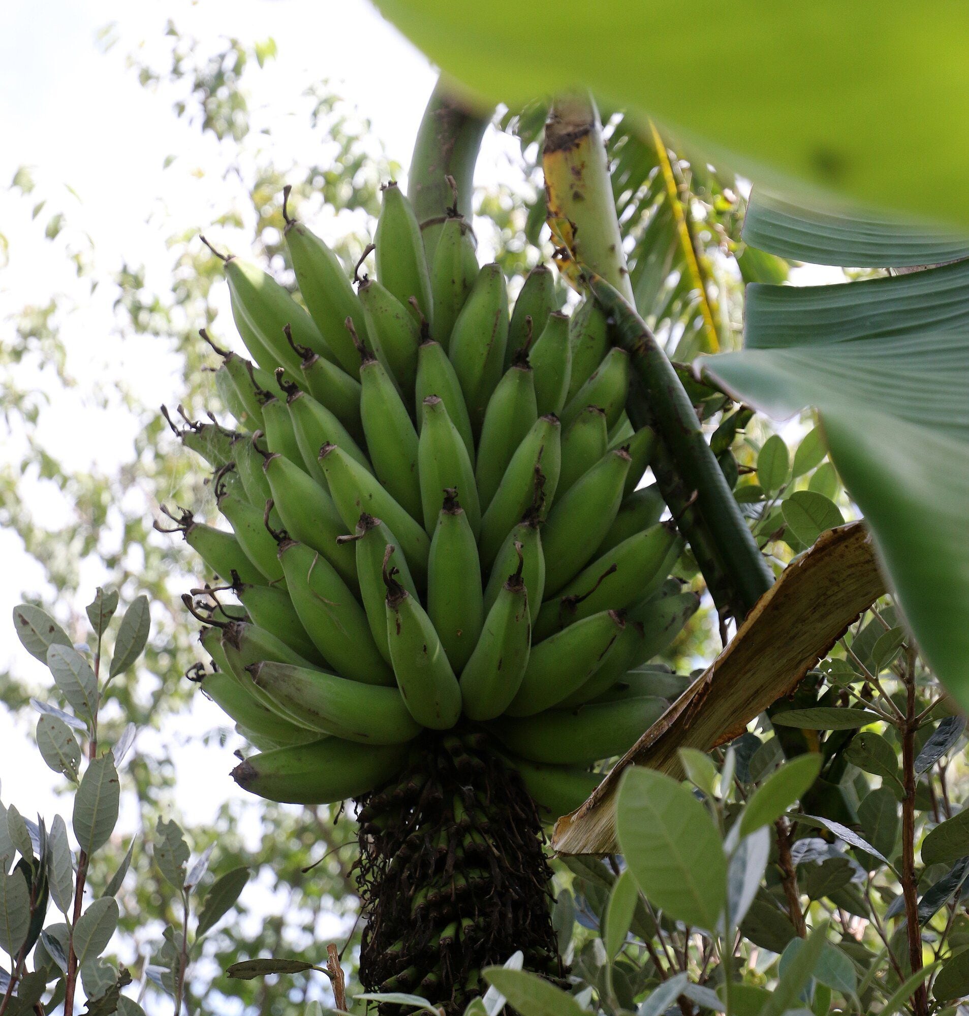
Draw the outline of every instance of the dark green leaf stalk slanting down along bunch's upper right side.
<instances>
[{"instance_id":1,"label":"dark green leaf stalk slanting down along bunch's upper right side","mask_svg":"<svg viewBox=\"0 0 969 1016\"><path fill-rule=\"evenodd\" d=\"M700 421L666 354L646 322L604 278L587 284L612 319L619 343L630 354L652 424L710 534L723 571L735 589L741 619L771 587L774 576L761 555L716 460Z\"/></svg>"}]
</instances>

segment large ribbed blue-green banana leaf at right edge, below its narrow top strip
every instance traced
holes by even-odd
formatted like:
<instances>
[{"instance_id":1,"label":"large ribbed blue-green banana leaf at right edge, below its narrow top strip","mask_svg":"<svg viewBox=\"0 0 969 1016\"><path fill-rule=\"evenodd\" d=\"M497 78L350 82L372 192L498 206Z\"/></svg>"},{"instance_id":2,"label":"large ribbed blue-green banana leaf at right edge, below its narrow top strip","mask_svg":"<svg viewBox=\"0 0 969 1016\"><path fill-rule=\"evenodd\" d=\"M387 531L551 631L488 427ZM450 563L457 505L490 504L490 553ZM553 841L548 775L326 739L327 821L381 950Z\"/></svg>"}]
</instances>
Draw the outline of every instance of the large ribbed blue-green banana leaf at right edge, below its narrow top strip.
<instances>
[{"instance_id":1,"label":"large ribbed blue-green banana leaf at right edge, below its narrow top strip","mask_svg":"<svg viewBox=\"0 0 969 1016\"><path fill-rule=\"evenodd\" d=\"M781 209L760 234L774 253L786 221ZM910 239L884 241L897 251ZM969 709L969 262L749 287L745 348L701 370L772 417L818 410L926 660Z\"/></svg>"}]
</instances>

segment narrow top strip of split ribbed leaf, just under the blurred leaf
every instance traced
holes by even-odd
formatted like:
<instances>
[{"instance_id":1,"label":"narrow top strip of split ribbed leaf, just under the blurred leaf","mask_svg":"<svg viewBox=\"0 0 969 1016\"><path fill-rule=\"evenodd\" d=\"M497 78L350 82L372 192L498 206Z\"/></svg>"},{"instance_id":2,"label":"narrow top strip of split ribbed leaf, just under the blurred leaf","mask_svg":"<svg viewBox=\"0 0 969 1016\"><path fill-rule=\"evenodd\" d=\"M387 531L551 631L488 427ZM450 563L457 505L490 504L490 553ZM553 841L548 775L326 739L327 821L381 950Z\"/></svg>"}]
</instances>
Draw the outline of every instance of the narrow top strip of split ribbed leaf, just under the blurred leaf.
<instances>
[{"instance_id":1,"label":"narrow top strip of split ribbed leaf, just under the blurred leaf","mask_svg":"<svg viewBox=\"0 0 969 1016\"><path fill-rule=\"evenodd\" d=\"M755 187L744 240L793 261L898 268L969 257L969 238L863 208L791 201Z\"/></svg>"}]
</instances>

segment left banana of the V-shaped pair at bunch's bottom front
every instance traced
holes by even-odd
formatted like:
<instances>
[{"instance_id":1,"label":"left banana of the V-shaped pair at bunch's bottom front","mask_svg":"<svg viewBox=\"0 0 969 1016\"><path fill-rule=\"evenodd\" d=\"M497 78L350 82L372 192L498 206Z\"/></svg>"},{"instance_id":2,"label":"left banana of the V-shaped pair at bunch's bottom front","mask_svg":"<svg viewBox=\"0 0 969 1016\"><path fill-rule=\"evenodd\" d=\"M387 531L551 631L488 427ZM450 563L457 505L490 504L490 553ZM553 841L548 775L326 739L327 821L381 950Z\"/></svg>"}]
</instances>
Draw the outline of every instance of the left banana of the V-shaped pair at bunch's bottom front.
<instances>
[{"instance_id":1,"label":"left banana of the V-shaped pair at bunch's bottom front","mask_svg":"<svg viewBox=\"0 0 969 1016\"><path fill-rule=\"evenodd\" d=\"M391 548L388 547L389 559ZM454 726L461 715L461 689L431 619L384 566L387 640L397 687L410 715L432 731Z\"/></svg>"}]
</instances>

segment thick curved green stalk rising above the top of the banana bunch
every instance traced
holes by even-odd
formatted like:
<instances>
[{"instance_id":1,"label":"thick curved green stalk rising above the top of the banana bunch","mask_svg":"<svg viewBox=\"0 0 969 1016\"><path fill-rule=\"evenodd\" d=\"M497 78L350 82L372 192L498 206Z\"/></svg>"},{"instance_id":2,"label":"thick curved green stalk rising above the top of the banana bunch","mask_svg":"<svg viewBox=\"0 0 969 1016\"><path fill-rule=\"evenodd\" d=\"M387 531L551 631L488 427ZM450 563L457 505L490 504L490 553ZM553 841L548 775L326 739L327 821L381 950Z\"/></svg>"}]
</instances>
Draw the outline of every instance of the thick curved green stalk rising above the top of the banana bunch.
<instances>
[{"instance_id":1,"label":"thick curved green stalk rising above the top of the banana bunch","mask_svg":"<svg viewBox=\"0 0 969 1016\"><path fill-rule=\"evenodd\" d=\"M457 189L457 210L470 221L474 164L491 112L468 106L443 75L431 93L417 128L407 182L407 197L421 224L429 261L448 209L455 204L448 177Z\"/></svg>"}]
</instances>

